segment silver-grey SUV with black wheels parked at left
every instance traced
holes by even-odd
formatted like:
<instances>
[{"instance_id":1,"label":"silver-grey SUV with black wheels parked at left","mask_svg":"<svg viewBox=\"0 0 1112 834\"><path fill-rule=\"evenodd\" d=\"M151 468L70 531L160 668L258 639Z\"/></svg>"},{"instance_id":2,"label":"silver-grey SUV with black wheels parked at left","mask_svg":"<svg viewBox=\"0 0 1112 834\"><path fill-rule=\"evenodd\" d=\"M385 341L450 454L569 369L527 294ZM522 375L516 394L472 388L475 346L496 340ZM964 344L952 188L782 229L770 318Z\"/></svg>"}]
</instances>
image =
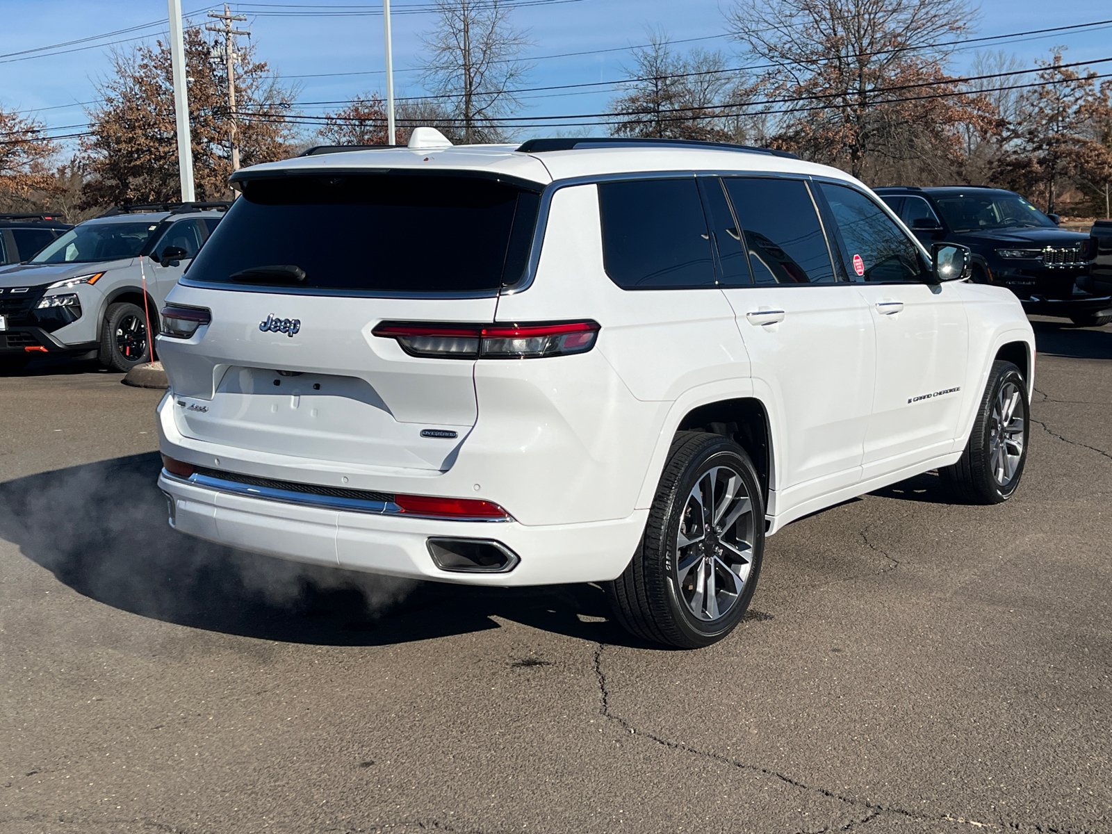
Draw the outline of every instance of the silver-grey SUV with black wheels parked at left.
<instances>
[{"instance_id":1,"label":"silver-grey SUV with black wheels parked at left","mask_svg":"<svg viewBox=\"0 0 1112 834\"><path fill-rule=\"evenodd\" d=\"M36 354L97 357L119 371L150 361L148 318L158 332L167 294L227 207L122 206L0 268L0 369Z\"/></svg>"}]
</instances>

